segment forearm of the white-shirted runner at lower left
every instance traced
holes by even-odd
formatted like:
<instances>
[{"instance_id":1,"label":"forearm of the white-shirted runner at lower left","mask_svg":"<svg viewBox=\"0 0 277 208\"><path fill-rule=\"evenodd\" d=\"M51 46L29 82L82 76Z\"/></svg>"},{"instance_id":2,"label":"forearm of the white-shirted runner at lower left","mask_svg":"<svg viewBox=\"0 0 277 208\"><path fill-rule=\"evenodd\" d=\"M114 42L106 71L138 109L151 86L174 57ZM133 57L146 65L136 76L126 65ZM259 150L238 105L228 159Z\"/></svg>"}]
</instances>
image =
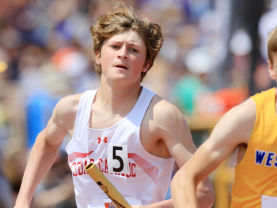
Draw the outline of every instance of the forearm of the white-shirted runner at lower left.
<instances>
[{"instance_id":1,"label":"forearm of the white-shirted runner at lower left","mask_svg":"<svg viewBox=\"0 0 277 208\"><path fill-rule=\"evenodd\" d=\"M16 199L16 205L30 206L38 184L53 165L59 146L50 146L43 139L44 131L38 134L31 150L23 176L21 189Z\"/></svg>"}]
</instances>

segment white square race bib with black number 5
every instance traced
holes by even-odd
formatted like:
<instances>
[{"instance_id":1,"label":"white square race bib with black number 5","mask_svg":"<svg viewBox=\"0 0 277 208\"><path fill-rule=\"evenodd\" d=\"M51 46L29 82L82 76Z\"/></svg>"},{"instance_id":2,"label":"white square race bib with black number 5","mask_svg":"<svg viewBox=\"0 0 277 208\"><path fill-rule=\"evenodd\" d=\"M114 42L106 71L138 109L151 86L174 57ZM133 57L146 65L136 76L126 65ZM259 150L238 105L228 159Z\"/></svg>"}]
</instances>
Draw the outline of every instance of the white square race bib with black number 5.
<instances>
[{"instance_id":1,"label":"white square race bib with black number 5","mask_svg":"<svg viewBox=\"0 0 277 208\"><path fill-rule=\"evenodd\" d=\"M127 145L108 145L108 171L110 173L130 174Z\"/></svg>"}]
</instances>

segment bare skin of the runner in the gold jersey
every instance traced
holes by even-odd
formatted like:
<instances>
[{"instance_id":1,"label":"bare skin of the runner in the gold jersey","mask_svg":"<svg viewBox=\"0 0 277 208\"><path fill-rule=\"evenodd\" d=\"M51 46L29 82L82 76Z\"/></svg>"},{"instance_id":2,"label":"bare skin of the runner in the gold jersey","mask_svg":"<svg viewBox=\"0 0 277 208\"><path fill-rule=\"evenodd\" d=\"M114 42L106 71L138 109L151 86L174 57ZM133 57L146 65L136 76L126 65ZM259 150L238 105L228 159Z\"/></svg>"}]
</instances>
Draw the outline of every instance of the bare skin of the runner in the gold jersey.
<instances>
[{"instance_id":1,"label":"bare skin of the runner in the gold jersey","mask_svg":"<svg viewBox=\"0 0 277 208\"><path fill-rule=\"evenodd\" d=\"M272 58L274 64L268 61L269 75L277 82L277 53ZM276 100L277 88L275 88ZM251 98L232 108L222 117L208 140L174 175L171 181L174 207L200 207L196 200L195 187L215 170L235 148L238 148L237 164L240 163L246 151L255 119L256 107Z\"/></svg>"}]
</instances>

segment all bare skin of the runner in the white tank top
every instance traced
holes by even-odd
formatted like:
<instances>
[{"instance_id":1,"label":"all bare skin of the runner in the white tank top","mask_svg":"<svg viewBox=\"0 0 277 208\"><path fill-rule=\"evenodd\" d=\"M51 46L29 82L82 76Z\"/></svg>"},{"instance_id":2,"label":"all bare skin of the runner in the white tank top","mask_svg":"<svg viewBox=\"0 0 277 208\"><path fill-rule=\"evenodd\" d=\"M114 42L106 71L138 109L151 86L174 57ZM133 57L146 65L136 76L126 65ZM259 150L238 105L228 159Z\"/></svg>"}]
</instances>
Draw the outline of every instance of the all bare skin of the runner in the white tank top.
<instances>
[{"instance_id":1,"label":"all bare skin of the runner in the white tank top","mask_svg":"<svg viewBox=\"0 0 277 208\"><path fill-rule=\"evenodd\" d=\"M96 62L102 65L101 89L91 106L90 128L110 127L121 121L133 108L141 93L141 72L146 48L138 33L129 30L104 41ZM117 67L118 64L125 68ZM57 103L47 127L38 134L24 174L22 188L15 208L29 207L32 196L46 172L50 169L67 133L74 132L77 106L82 94L68 96ZM170 121L170 122L168 122ZM173 157L181 167L196 150L188 125L182 113L171 103L154 96L141 125L143 147L155 156ZM200 182L199 203L211 207L213 190L208 178ZM132 207L173 207L173 201Z\"/></svg>"}]
</instances>

